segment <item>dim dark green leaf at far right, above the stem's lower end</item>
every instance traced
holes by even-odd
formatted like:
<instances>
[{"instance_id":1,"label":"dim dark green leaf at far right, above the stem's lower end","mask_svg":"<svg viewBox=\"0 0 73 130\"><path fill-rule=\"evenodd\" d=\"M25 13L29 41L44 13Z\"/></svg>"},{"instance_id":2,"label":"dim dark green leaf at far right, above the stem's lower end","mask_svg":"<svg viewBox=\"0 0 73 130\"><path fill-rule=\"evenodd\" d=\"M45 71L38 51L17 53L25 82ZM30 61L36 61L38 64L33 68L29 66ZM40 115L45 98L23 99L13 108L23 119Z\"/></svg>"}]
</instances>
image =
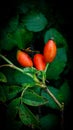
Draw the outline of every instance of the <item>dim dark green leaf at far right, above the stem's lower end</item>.
<instances>
[{"instance_id":1,"label":"dim dark green leaf at far right, above the stem's lower end","mask_svg":"<svg viewBox=\"0 0 73 130\"><path fill-rule=\"evenodd\" d=\"M68 81L65 81L59 89L58 98L61 102L64 102L64 105L68 105L70 99L71 99L71 89L68 84Z\"/></svg>"}]
</instances>

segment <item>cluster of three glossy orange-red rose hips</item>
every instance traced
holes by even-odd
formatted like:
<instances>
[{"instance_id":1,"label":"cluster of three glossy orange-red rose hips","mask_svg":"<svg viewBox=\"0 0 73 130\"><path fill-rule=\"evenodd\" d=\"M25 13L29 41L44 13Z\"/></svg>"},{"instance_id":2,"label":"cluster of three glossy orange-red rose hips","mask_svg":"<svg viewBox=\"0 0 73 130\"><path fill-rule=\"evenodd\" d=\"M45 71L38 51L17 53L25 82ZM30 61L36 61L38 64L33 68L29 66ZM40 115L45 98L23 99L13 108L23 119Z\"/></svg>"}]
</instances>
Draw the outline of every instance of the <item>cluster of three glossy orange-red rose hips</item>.
<instances>
[{"instance_id":1,"label":"cluster of three glossy orange-red rose hips","mask_svg":"<svg viewBox=\"0 0 73 130\"><path fill-rule=\"evenodd\" d=\"M54 40L50 39L44 45L43 54L36 53L33 58L27 52L17 51L17 61L22 67L34 66L38 70L44 70L47 63L51 63L56 57L57 46Z\"/></svg>"}]
</instances>

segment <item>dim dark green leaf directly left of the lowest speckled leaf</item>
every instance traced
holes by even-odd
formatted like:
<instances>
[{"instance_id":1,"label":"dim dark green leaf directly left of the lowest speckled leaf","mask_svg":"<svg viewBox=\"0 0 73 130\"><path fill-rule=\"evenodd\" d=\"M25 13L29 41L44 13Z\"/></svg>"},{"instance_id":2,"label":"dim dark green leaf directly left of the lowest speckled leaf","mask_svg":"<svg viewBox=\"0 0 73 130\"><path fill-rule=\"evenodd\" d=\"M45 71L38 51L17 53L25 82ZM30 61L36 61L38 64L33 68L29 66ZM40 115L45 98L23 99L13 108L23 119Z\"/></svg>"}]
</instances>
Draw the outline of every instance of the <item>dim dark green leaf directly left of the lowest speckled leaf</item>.
<instances>
[{"instance_id":1,"label":"dim dark green leaf directly left of the lowest speckled leaf","mask_svg":"<svg viewBox=\"0 0 73 130\"><path fill-rule=\"evenodd\" d=\"M15 98L8 104L7 115L9 118L15 119L19 111L19 105L20 105L20 98Z\"/></svg>"}]
</instances>

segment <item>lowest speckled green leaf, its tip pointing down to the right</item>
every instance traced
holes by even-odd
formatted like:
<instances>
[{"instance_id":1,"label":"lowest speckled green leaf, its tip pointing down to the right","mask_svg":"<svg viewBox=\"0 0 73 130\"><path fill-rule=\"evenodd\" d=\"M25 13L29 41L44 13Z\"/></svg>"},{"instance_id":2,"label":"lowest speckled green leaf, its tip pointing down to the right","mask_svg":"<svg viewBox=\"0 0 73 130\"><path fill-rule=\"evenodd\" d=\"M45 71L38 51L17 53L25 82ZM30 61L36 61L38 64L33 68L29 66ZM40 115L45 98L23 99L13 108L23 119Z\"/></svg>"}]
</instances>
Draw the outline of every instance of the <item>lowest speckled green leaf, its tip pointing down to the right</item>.
<instances>
[{"instance_id":1,"label":"lowest speckled green leaf, its tip pointing down to the right","mask_svg":"<svg viewBox=\"0 0 73 130\"><path fill-rule=\"evenodd\" d=\"M38 120L35 115L23 104L20 105L19 117L25 125L38 127Z\"/></svg>"}]
</instances>

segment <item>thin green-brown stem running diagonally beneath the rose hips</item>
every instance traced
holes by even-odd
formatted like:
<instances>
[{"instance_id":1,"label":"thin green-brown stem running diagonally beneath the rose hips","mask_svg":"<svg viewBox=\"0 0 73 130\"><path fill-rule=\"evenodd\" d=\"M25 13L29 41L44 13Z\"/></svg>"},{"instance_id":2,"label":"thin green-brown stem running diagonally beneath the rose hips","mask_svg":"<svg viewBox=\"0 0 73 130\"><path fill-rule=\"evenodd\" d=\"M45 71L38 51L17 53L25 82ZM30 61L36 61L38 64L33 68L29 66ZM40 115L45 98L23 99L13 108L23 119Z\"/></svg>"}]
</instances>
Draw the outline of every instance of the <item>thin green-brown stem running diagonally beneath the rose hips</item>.
<instances>
[{"instance_id":1,"label":"thin green-brown stem running diagonally beneath the rose hips","mask_svg":"<svg viewBox=\"0 0 73 130\"><path fill-rule=\"evenodd\" d=\"M23 69L21 69L21 68L15 66L15 65L14 65L10 60L8 60L5 56L3 56L3 55L0 54L0 57L1 57L2 59L4 59L4 60L8 63L8 64L5 64L5 65L1 65L0 68L1 68L1 67L4 67L4 66L9 66L9 67L11 67L11 68L13 68L13 69L16 69L16 70L22 72L23 74L26 74L26 75L30 76L31 78L34 78L34 76L32 76L31 74L29 74L29 73L24 73L24 70L23 70ZM46 69L48 68L48 65L49 65L49 64L47 64ZM46 70L45 70L45 71L46 71ZM51 91L50 91L50 90L47 88L47 86L45 85L44 80L43 80L43 82L40 82L40 81L38 80L37 76L34 78L34 80L36 81L36 85L38 85L38 86L40 86L41 88L45 89L45 91L53 98L53 100L55 101L55 103L60 107L60 110L63 111L63 109L64 109L64 104L61 104L61 103L56 99L56 97L51 93ZM24 90L25 90L25 89L24 89ZM23 91L23 92L24 92L24 91ZM23 95L23 94L22 94L22 95Z\"/></svg>"}]
</instances>

